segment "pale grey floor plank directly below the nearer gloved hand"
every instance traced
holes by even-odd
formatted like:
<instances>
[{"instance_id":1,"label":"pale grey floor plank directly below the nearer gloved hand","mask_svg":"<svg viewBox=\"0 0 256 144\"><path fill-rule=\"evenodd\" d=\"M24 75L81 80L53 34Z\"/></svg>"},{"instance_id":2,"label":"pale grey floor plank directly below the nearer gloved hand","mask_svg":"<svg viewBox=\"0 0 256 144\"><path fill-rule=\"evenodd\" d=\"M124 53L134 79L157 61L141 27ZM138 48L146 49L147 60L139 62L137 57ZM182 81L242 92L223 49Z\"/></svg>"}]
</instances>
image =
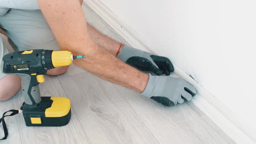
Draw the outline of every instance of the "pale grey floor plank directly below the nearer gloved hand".
<instances>
[{"instance_id":1,"label":"pale grey floor plank directly below the nearer gloved hand","mask_svg":"<svg viewBox=\"0 0 256 144\"><path fill-rule=\"evenodd\" d=\"M115 86L160 143L227 143L186 103L164 107L137 92Z\"/></svg>"}]
</instances>

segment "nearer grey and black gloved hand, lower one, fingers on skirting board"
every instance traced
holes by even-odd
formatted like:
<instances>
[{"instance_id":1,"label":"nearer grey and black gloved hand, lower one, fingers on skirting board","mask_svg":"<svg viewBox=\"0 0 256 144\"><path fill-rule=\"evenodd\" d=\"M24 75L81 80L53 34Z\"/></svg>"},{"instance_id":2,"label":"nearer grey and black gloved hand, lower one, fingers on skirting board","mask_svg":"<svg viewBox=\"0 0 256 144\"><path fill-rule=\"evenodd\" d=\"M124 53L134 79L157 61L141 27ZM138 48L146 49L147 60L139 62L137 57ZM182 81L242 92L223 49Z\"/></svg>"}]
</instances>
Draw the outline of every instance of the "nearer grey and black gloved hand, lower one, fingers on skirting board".
<instances>
[{"instance_id":1,"label":"nearer grey and black gloved hand, lower one, fingers on skirting board","mask_svg":"<svg viewBox=\"0 0 256 144\"><path fill-rule=\"evenodd\" d=\"M190 101L197 91L193 85L181 78L149 74L148 84L141 94L165 106L173 106L183 103L184 100Z\"/></svg>"}]
</instances>

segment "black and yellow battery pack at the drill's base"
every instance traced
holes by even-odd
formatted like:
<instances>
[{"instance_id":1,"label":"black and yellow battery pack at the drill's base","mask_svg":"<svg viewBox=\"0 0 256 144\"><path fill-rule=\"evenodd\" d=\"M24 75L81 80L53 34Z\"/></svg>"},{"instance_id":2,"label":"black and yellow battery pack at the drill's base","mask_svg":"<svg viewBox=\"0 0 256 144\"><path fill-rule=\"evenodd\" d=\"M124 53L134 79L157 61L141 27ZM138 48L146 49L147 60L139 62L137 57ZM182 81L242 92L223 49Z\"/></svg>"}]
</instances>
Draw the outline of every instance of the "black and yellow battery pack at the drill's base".
<instances>
[{"instance_id":1,"label":"black and yellow battery pack at the drill's base","mask_svg":"<svg viewBox=\"0 0 256 144\"><path fill-rule=\"evenodd\" d=\"M68 98L41 97L36 105L23 103L23 117L27 126L56 127L69 123L71 104Z\"/></svg>"}]
</instances>

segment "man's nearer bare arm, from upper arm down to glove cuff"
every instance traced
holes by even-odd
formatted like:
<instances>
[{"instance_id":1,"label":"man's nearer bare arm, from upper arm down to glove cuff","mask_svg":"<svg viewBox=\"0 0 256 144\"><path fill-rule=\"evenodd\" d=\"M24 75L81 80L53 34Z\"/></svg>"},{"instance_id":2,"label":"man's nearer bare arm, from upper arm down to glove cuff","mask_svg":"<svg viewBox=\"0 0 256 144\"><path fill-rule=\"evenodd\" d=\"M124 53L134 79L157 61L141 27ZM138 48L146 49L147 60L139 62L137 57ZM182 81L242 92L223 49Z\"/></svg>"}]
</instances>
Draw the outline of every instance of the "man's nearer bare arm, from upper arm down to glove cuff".
<instances>
[{"instance_id":1,"label":"man's nearer bare arm, from upper arm down to glove cuff","mask_svg":"<svg viewBox=\"0 0 256 144\"><path fill-rule=\"evenodd\" d=\"M87 56L76 60L75 65L137 92L144 91L148 74L126 65L92 42L79 0L38 0L38 3L61 49Z\"/></svg>"}]
</instances>

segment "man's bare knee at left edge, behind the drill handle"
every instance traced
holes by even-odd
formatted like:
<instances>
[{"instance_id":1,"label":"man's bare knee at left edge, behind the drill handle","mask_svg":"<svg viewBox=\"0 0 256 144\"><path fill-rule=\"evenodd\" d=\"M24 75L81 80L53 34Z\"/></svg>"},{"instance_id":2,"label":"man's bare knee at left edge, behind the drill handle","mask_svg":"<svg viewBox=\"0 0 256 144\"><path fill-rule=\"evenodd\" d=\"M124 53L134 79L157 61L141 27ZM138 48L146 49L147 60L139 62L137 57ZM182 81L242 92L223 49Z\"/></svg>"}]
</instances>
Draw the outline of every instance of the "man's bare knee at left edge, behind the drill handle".
<instances>
[{"instance_id":1,"label":"man's bare knee at left edge, behind the drill handle","mask_svg":"<svg viewBox=\"0 0 256 144\"><path fill-rule=\"evenodd\" d=\"M12 98L20 90L20 77L6 75L0 79L0 101Z\"/></svg>"}]
</instances>

